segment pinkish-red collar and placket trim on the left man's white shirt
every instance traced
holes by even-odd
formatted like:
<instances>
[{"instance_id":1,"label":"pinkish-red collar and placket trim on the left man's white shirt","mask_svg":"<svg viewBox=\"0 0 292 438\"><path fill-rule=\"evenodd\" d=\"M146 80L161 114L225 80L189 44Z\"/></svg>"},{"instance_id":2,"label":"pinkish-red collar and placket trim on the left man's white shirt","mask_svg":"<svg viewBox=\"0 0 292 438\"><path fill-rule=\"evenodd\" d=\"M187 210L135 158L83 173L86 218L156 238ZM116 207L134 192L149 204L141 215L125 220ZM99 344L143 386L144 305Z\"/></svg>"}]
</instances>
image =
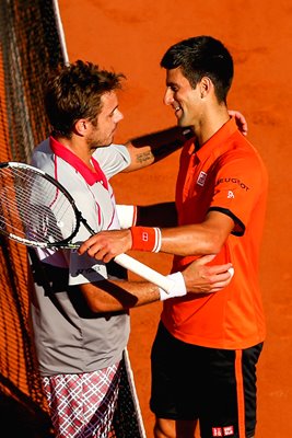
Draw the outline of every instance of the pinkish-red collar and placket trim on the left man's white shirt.
<instances>
[{"instance_id":1,"label":"pinkish-red collar and placket trim on the left man's white shirt","mask_svg":"<svg viewBox=\"0 0 292 438\"><path fill-rule=\"evenodd\" d=\"M95 172L92 172L79 157L77 157L72 151L67 149L63 145L61 145L51 136L49 137L49 145L52 152L56 155L60 157L63 161L72 165L72 168L74 168L83 176L89 185L101 183L106 189L108 189L107 178L102 171L100 164L93 157L91 158L91 161Z\"/></svg>"}]
</instances>

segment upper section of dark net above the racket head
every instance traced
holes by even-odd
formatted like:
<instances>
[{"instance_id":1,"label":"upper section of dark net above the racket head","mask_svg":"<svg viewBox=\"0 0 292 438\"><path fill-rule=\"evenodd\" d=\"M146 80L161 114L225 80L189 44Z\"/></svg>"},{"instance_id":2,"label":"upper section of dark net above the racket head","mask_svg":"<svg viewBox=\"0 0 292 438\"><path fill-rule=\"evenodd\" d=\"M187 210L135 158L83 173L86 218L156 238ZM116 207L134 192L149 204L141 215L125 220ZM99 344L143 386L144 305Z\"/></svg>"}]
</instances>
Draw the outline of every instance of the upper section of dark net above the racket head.
<instances>
[{"instance_id":1,"label":"upper section of dark net above the racket head","mask_svg":"<svg viewBox=\"0 0 292 438\"><path fill-rule=\"evenodd\" d=\"M51 0L2 0L0 37L9 149L26 161L48 134L43 84L47 72L62 61Z\"/></svg>"}]
</instances>

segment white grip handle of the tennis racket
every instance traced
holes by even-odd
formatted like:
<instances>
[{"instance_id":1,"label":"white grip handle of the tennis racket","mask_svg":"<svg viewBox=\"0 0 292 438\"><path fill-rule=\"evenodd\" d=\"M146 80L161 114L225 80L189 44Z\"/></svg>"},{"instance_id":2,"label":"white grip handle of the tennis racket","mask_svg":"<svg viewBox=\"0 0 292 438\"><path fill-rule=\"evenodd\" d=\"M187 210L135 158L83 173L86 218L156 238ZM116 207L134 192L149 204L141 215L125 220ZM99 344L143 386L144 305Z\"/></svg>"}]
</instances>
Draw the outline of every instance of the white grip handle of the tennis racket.
<instances>
[{"instance_id":1,"label":"white grip handle of the tennis racket","mask_svg":"<svg viewBox=\"0 0 292 438\"><path fill-rule=\"evenodd\" d=\"M131 270L132 273L139 275L145 280L153 283L160 288L164 289L165 292L170 292L174 283L171 278L166 277L152 269L151 267L144 265L143 263L137 261L136 258L130 257L127 254L119 254L115 258L115 262L126 269Z\"/></svg>"}]
</instances>

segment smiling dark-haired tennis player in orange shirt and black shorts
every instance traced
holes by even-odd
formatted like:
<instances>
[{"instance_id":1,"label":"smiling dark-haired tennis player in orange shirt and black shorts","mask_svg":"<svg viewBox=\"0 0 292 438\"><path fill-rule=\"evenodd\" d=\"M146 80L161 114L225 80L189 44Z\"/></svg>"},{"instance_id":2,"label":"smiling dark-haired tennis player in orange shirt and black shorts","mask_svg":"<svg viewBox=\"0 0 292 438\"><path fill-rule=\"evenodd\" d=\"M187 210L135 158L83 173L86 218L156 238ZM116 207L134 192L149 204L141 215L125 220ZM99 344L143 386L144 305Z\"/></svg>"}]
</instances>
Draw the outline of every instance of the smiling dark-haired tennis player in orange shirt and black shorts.
<instances>
[{"instance_id":1,"label":"smiling dark-haired tennis player in orange shirt and black shorts","mask_svg":"<svg viewBox=\"0 0 292 438\"><path fill-rule=\"evenodd\" d=\"M180 155L175 208L138 208L136 226L103 231L80 253L108 262L128 250L160 251L174 254L173 272L206 254L215 254L210 264L233 264L223 290L164 302L152 348L151 410L155 438L194 438L197 422L202 438L252 438L266 335L258 266L267 172L227 111L233 59L226 47L211 36L188 38L161 66L164 103L178 126L194 131Z\"/></svg>"}]
</instances>

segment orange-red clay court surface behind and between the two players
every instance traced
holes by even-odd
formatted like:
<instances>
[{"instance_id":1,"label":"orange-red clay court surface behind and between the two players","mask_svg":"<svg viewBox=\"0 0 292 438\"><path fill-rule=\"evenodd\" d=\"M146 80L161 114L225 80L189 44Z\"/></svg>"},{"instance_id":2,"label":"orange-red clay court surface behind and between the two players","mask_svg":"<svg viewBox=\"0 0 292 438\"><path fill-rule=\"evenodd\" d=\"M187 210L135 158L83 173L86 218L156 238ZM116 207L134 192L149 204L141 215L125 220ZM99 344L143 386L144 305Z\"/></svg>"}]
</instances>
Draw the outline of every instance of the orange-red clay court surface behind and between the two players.
<instances>
[{"instance_id":1,"label":"orange-red clay court surface behind and between the two players","mask_svg":"<svg viewBox=\"0 0 292 438\"><path fill-rule=\"evenodd\" d=\"M291 371L291 103L292 3L278 0L59 0L69 59L91 60L127 76L120 99L125 119L117 141L175 124L163 106L166 48L179 39L208 34L230 48L235 79L230 108L243 112L250 141L270 175L270 196L262 243L260 280L268 336L258 367L257 437L292 434ZM174 198L178 153L151 169L113 180L118 203L150 204ZM167 273L171 258L133 254ZM129 344L148 437L150 348L160 304L131 312Z\"/></svg>"}]
</instances>

